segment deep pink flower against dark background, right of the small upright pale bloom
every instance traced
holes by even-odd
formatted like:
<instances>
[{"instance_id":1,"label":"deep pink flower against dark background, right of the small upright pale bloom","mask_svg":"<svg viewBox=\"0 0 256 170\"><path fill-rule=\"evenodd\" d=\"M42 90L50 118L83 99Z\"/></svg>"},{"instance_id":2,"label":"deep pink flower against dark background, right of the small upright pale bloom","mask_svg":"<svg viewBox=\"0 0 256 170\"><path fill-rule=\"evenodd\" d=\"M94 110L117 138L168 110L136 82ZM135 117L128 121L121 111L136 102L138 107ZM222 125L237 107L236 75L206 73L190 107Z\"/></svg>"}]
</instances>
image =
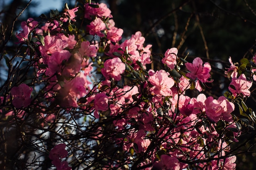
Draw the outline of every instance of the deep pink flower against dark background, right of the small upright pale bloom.
<instances>
[{"instance_id":1,"label":"deep pink flower against dark background, right of the small upright pale bloom","mask_svg":"<svg viewBox=\"0 0 256 170\"><path fill-rule=\"evenodd\" d=\"M211 65L209 63L204 63L203 65L202 59L197 57L193 60L193 63L185 63L185 65L190 71L190 73L186 74L187 77L192 78L193 80L198 79L202 83L210 82L207 81L211 76Z\"/></svg>"}]
</instances>

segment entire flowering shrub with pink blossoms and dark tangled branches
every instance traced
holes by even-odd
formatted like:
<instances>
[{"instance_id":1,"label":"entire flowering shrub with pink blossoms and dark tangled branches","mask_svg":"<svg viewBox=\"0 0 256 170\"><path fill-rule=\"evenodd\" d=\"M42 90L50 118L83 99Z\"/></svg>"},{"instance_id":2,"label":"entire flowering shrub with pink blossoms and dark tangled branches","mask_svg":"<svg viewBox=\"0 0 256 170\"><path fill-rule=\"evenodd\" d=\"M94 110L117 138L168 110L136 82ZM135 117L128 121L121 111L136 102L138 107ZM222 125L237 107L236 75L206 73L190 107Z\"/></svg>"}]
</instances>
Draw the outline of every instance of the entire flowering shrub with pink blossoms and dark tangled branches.
<instances>
[{"instance_id":1,"label":"entire flowering shrub with pink blossoms and dark tangled branches","mask_svg":"<svg viewBox=\"0 0 256 170\"><path fill-rule=\"evenodd\" d=\"M147 69L151 45L139 31L121 41L123 30L106 4L66 6L51 16L22 22L16 37L23 53L15 58L23 65L5 58L10 76L1 87L1 121L6 133L19 132L20 148L31 146L26 158L22 149L16 153L24 167L236 167L231 144L254 128L255 114L245 101L255 57L242 59L239 68L229 60L229 91L216 98L204 93L215 80L200 57L190 63L172 47L162 69ZM17 67L25 73L8 83Z\"/></svg>"}]
</instances>

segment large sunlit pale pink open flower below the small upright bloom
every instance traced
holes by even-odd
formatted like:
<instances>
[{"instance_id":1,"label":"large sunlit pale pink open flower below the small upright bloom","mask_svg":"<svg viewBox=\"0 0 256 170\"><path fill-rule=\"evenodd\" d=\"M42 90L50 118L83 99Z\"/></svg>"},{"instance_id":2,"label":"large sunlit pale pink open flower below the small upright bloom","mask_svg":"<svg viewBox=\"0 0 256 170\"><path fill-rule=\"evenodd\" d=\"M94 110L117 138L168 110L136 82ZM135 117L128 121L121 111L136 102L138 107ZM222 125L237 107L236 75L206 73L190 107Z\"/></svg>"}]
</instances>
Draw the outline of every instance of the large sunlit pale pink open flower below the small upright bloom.
<instances>
[{"instance_id":1,"label":"large sunlit pale pink open flower below the small upright bloom","mask_svg":"<svg viewBox=\"0 0 256 170\"><path fill-rule=\"evenodd\" d=\"M155 72L154 75L149 76L148 81L154 86L150 88L154 94L162 96L172 95L171 87L174 85L174 80L173 78L168 77L168 73L166 71L159 70Z\"/></svg>"}]
</instances>

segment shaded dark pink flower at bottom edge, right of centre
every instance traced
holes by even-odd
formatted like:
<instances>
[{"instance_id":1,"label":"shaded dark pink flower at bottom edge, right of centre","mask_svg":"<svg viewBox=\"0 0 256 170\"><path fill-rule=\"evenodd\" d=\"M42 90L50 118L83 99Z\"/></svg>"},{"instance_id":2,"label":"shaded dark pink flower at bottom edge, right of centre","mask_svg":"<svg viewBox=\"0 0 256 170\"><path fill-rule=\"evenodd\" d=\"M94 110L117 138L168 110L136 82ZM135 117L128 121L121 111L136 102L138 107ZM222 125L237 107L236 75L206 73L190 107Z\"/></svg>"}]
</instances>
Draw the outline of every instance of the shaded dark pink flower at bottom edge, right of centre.
<instances>
[{"instance_id":1,"label":"shaded dark pink flower at bottom edge, right of centre","mask_svg":"<svg viewBox=\"0 0 256 170\"><path fill-rule=\"evenodd\" d=\"M173 156L161 155L161 161L155 161L153 168L157 170L180 170L179 160Z\"/></svg>"}]
</instances>

